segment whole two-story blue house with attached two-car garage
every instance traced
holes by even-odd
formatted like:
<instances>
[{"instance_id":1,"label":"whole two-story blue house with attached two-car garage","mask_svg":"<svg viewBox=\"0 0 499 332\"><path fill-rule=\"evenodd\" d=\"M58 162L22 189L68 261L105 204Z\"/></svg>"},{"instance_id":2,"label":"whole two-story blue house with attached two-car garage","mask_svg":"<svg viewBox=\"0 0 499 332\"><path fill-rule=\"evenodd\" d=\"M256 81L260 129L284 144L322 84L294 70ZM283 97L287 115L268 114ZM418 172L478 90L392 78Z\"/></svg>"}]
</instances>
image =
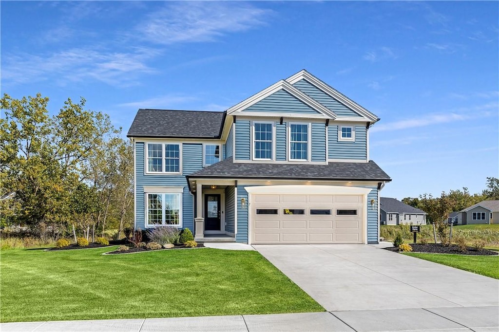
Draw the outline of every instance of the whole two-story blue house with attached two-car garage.
<instances>
[{"instance_id":1,"label":"whole two-story blue house with attached two-car garage","mask_svg":"<svg viewBox=\"0 0 499 332\"><path fill-rule=\"evenodd\" d=\"M225 112L140 109L135 228L200 241L377 243L378 117L302 70Z\"/></svg>"}]
</instances>

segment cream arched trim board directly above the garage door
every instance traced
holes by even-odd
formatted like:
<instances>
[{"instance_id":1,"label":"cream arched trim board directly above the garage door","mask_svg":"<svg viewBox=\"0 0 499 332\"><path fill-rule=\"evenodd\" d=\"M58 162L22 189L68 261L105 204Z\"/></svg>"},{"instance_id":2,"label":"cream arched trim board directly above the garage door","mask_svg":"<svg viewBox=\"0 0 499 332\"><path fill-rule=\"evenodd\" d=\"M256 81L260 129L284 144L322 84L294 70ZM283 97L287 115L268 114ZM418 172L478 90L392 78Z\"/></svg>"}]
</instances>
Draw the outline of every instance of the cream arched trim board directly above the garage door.
<instances>
[{"instance_id":1,"label":"cream arched trim board directly above the garage door","mask_svg":"<svg viewBox=\"0 0 499 332\"><path fill-rule=\"evenodd\" d=\"M245 187L249 194L367 195L371 188L339 185L262 185Z\"/></svg>"}]
</instances>

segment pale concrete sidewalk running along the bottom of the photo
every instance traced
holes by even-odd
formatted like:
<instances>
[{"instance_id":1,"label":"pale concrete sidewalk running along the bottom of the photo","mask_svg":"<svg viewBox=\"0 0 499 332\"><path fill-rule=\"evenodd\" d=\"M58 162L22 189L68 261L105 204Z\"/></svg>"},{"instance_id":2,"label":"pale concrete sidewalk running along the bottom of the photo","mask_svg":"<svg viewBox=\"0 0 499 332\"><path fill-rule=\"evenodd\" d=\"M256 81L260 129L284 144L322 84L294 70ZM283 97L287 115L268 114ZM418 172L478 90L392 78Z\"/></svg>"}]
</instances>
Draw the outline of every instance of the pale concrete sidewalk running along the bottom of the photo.
<instances>
[{"instance_id":1,"label":"pale concrete sidewalk running along the bottom of the photo","mask_svg":"<svg viewBox=\"0 0 499 332\"><path fill-rule=\"evenodd\" d=\"M2 323L2 332L499 331L499 307Z\"/></svg>"}]
</instances>

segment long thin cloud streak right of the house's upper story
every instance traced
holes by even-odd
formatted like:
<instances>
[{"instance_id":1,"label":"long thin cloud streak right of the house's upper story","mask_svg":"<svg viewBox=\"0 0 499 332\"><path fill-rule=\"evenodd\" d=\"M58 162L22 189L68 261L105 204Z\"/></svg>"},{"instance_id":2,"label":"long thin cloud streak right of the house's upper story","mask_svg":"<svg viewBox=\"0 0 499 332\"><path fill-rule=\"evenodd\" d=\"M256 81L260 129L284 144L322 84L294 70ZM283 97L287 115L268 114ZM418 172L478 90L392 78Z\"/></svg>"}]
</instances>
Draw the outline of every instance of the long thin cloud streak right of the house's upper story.
<instances>
[{"instance_id":1,"label":"long thin cloud streak right of the house's upper story","mask_svg":"<svg viewBox=\"0 0 499 332\"><path fill-rule=\"evenodd\" d=\"M386 131L395 131L395 130L402 130L409 128L426 127L436 124L464 121L469 119L487 118L497 114L497 112L494 112L493 110L497 110L498 106L499 105L497 102L476 106L475 108L470 108L469 109L470 112L467 114L461 114L457 112L428 114L417 118L404 119L390 123L380 124L374 126L370 131L372 133L386 132Z\"/></svg>"}]
</instances>

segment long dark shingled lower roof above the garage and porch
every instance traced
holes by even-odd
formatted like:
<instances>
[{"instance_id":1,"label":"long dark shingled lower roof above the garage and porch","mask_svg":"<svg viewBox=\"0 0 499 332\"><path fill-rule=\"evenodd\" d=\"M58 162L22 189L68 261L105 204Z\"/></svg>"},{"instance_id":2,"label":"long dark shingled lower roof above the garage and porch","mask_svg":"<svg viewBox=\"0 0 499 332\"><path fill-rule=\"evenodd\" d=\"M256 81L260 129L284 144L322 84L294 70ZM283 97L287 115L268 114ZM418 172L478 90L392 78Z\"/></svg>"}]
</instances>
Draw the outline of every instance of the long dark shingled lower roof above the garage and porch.
<instances>
[{"instance_id":1,"label":"long dark shingled lower roof above the garage and porch","mask_svg":"<svg viewBox=\"0 0 499 332\"><path fill-rule=\"evenodd\" d=\"M188 178L279 178L322 180L391 181L383 169L369 163L332 163L328 165L233 163L232 158L213 164Z\"/></svg>"}]
</instances>

